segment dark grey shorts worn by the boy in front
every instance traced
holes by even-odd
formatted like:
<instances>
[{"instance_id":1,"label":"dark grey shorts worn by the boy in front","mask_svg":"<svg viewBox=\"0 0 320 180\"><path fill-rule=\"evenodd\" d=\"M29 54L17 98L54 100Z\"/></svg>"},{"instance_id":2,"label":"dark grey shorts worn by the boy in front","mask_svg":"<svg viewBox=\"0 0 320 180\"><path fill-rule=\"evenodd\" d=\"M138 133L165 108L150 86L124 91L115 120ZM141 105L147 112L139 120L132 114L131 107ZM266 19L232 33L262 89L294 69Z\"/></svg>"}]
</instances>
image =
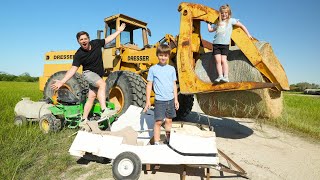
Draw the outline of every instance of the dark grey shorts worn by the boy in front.
<instances>
[{"instance_id":1,"label":"dark grey shorts worn by the boy in front","mask_svg":"<svg viewBox=\"0 0 320 180\"><path fill-rule=\"evenodd\" d=\"M154 120L163 120L164 118L173 119L176 117L174 99L169 101L155 100Z\"/></svg>"}]
</instances>

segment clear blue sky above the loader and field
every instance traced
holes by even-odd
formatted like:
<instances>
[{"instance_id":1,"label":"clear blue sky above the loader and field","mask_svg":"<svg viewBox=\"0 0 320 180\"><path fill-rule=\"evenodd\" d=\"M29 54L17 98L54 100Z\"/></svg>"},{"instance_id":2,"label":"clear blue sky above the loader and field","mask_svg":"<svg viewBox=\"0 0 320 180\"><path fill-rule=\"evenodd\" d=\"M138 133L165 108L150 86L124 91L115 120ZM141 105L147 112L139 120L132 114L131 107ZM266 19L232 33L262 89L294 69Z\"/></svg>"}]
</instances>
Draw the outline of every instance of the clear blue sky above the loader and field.
<instances>
[{"instance_id":1,"label":"clear blue sky above the loader and field","mask_svg":"<svg viewBox=\"0 0 320 180\"><path fill-rule=\"evenodd\" d=\"M181 2L214 9L228 3L233 17L240 19L252 36L272 45L290 84L320 84L320 1L316 0L4 0L0 6L0 71L41 76L45 52L79 48L75 34L85 30L95 38L96 30L104 27L104 18L113 14L147 22L152 31L150 44L165 34L175 36ZM213 35L202 34L210 41Z\"/></svg>"}]
</instances>

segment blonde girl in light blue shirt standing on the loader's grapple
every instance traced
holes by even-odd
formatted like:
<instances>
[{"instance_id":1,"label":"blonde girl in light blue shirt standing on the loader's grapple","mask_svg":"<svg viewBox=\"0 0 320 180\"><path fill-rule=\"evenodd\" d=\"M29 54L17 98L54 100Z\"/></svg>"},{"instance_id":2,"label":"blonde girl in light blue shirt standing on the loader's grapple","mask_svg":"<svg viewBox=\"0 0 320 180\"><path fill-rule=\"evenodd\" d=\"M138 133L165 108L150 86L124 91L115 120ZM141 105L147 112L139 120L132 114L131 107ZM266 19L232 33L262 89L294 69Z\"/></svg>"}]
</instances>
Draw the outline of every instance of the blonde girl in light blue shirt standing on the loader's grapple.
<instances>
[{"instance_id":1,"label":"blonde girl in light blue shirt standing on the loader's grapple","mask_svg":"<svg viewBox=\"0 0 320 180\"><path fill-rule=\"evenodd\" d=\"M242 25L239 20L231 18L231 9L228 4L223 5L219 9L219 21L215 27L208 24L208 31L216 34L213 40L213 55L216 59L216 67L218 72L218 78L215 82L229 82L228 78L228 62L227 56L229 52L229 44L233 26L238 26L247 33L250 39L252 39L247 28Z\"/></svg>"}]
</instances>

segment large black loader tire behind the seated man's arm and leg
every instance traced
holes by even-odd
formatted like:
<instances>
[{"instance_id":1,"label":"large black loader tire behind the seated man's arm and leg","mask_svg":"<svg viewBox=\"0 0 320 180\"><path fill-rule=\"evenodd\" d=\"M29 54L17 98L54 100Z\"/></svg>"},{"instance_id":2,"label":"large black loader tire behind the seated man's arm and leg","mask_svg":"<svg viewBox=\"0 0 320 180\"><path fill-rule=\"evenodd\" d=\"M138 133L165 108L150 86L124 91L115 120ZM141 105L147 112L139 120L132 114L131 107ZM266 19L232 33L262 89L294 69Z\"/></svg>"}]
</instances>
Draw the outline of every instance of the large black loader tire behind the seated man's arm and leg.
<instances>
[{"instance_id":1,"label":"large black loader tire behind the seated man's arm and leg","mask_svg":"<svg viewBox=\"0 0 320 180\"><path fill-rule=\"evenodd\" d=\"M43 95L44 99L51 98L55 91L51 89L50 85L54 83L54 80L61 80L67 71L58 71L54 73L46 82ZM86 99L86 95L89 89L88 82L85 81L79 73L75 73L61 88L69 89L79 99L79 103Z\"/></svg>"}]
</instances>

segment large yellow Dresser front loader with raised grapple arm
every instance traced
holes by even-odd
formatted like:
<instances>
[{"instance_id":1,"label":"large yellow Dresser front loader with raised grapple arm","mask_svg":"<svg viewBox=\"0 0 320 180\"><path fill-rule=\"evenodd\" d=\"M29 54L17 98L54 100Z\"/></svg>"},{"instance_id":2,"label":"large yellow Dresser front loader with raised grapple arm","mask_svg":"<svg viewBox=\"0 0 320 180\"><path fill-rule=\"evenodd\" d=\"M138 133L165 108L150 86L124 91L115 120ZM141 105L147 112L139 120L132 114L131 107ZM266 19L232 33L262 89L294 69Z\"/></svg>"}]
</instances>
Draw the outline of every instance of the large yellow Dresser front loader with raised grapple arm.
<instances>
[{"instance_id":1,"label":"large yellow Dresser front loader with raised grapple arm","mask_svg":"<svg viewBox=\"0 0 320 180\"><path fill-rule=\"evenodd\" d=\"M212 104L201 99L208 100L210 99L208 96L215 97L218 92L237 94L254 92L255 90L252 89L267 88L281 94L282 90L288 89L287 77L274 56L271 46L266 43L261 44L257 40L250 40L239 28L234 29L232 34L232 44L236 46L230 49L237 49L234 52L244 57L245 60L242 62L255 69L262 79L237 80L230 72L232 82L213 84L211 79L215 76L215 67L214 63L212 65L214 60L210 53L212 44L201 38L200 28L201 22L214 23L218 18L218 12L212 8L191 3L181 3L178 11L181 14L179 35L174 37L166 34L153 45L148 43L151 31L147 28L147 23L123 14L105 18L105 29L98 31L98 38L101 32L106 37L113 33L122 22L127 24L125 31L102 49L107 97L116 104L120 114L125 112L131 104L141 107L145 105L148 69L158 63L155 52L157 46L162 43L167 43L172 48L169 64L175 66L178 74L181 105L178 115L180 117L191 111L194 94L197 95L198 101L201 102L199 104L204 110L205 107L215 106L215 102ZM264 51L268 51L269 55L266 55ZM46 53L44 74L40 77L40 90L44 91L45 97L54 96L55 92L51 90L50 84L54 79L61 79L65 71L71 67L74 53L75 51ZM86 97L85 92L88 85L82 80L80 73L81 69L62 88L71 90L82 101ZM239 70L238 73L248 72ZM260 99L263 101L264 97ZM259 102L248 105L257 106ZM212 112L215 114L214 109L205 111L207 114L212 114ZM231 115L237 116L234 113Z\"/></svg>"}]
</instances>

